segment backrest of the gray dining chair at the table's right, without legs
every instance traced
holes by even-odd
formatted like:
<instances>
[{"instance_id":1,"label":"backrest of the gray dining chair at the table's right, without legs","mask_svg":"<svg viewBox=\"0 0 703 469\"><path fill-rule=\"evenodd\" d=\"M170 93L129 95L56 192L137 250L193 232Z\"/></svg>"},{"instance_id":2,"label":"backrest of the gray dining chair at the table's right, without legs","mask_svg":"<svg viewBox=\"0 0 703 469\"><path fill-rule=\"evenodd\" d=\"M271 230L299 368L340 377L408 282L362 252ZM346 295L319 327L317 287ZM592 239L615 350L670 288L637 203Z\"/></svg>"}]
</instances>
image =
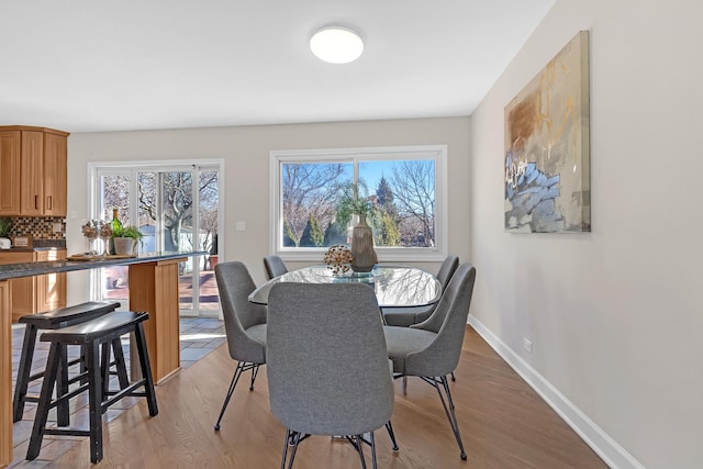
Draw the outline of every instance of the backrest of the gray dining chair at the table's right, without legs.
<instances>
[{"instance_id":1,"label":"backrest of the gray dining chair at the table's right, without legs","mask_svg":"<svg viewBox=\"0 0 703 469\"><path fill-rule=\"evenodd\" d=\"M406 375L445 376L457 367L475 282L476 268L468 263L460 265L432 315L411 326L434 332L436 336L423 350L408 355Z\"/></svg>"}]
</instances>

